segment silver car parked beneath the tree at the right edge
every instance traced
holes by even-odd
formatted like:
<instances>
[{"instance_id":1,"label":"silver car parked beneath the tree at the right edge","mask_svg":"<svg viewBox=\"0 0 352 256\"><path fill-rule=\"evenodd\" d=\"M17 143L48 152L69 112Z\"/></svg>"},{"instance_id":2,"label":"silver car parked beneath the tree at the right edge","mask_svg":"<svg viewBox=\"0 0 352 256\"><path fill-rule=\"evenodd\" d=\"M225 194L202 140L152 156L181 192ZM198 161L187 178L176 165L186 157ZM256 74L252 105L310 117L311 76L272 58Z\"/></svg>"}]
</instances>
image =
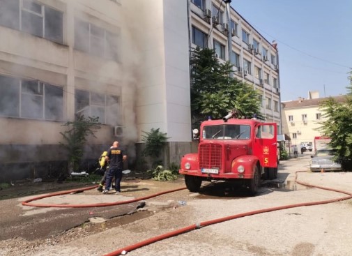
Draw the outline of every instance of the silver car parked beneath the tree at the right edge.
<instances>
[{"instance_id":1,"label":"silver car parked beneath the tree at the right edge","mask_svg":"<svg viewBox=\"0 0 352 256\"><path fill-rule=\"evenodd\" d=\"M312 172L321 172L321 170L324 170L324 172L342 170L341 164L332 160L334 157L334 151L332 149L317 150L314 156L311 157L312 160L310 161L309 167Z\"/></svg>"}]
</instances>

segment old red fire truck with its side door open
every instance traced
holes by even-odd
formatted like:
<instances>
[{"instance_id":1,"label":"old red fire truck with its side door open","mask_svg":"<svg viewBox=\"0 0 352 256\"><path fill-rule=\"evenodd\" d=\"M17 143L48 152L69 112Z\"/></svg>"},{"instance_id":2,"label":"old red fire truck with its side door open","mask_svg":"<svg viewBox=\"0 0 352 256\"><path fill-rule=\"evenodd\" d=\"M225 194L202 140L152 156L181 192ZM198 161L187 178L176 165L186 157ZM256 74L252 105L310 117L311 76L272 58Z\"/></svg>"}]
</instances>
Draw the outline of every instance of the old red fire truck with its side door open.
<instances>
[{"instance_id":1,"label":"old red fire truck with its side door open","mask_svg":"<svg viewBox=\"0 0 352 256\"><path fill-rule=\"evenodd\" d=\"M202 122L198 153L181 159L179 173L191 192L198 192L202 181L227 180L255 195L261 179L277 178L277 124L232 115Z\"/></svg>"}]
</instances>

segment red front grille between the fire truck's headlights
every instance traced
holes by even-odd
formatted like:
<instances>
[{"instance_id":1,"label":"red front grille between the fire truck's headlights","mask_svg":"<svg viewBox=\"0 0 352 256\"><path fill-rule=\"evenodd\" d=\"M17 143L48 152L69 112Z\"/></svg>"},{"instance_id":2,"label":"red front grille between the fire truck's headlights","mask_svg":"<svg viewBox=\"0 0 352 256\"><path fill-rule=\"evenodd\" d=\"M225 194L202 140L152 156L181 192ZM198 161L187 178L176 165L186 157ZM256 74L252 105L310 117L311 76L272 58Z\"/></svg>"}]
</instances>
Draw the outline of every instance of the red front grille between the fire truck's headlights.
<instances>
[{"instance_id":1,"label":"red front grille between the fire truck's headlights","mask_svg":"<svg viewBox=\"0 0 352 256\"><path fill-rule=\"evenodd\" d=\"M202 144L199 147L199 167L222 169L222 146L217 144Z\"/></svg>"}]
</instances>

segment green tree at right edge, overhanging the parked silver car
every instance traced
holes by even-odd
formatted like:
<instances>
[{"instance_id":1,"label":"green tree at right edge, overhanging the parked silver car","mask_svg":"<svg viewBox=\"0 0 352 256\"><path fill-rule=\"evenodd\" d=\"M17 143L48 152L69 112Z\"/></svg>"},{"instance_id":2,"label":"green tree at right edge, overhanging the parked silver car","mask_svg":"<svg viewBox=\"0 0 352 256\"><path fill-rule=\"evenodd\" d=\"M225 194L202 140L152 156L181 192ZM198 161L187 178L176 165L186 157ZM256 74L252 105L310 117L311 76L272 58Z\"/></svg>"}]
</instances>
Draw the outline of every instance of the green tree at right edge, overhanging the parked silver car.
<instances>
[{"instance_id":1,"label":"green tree at right edge, overhanging the parked silver car","mask_svg":"<svg viewBox=\"0 0 352 256\"><path fill-rule=\"evenodd\" d=\"M350 72L352 75L352 71ZM350 76L351 77L351 76ZM337 102L334 98L321 103L320 107L326 121L320 122L318 129L324 136L330 137L330 146L336 150L336 158L342 159L344 169L351 169L352 160L352 81L346 87L347 94L344 102Z\"/></svg>"}]
</instances>

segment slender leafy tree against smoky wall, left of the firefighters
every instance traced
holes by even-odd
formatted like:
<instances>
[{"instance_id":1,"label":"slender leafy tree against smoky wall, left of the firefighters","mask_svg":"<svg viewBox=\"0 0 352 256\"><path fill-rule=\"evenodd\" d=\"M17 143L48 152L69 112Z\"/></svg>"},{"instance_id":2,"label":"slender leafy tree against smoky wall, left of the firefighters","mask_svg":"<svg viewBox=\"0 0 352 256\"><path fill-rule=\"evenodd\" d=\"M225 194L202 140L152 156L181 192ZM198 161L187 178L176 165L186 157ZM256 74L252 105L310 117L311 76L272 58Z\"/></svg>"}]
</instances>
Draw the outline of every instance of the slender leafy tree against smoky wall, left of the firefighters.
<instances>
[{"instance_id":1,"label":"slender leafy tree against smoky wall, left of the firefighters","mask_svg":"<svg viewBox=\"0 0 352 256\"><path fill-rule=\"evenodd\" d=\"M60 143L68 152L68 172L78 170L79 163L84 153L84 144L89 135L95 137L94 133L100 129L99 117L85 118L79 114L75 121L68 121L63 124L68 130L61 133L66 143Z\"/></svg>"}]
</instances>

